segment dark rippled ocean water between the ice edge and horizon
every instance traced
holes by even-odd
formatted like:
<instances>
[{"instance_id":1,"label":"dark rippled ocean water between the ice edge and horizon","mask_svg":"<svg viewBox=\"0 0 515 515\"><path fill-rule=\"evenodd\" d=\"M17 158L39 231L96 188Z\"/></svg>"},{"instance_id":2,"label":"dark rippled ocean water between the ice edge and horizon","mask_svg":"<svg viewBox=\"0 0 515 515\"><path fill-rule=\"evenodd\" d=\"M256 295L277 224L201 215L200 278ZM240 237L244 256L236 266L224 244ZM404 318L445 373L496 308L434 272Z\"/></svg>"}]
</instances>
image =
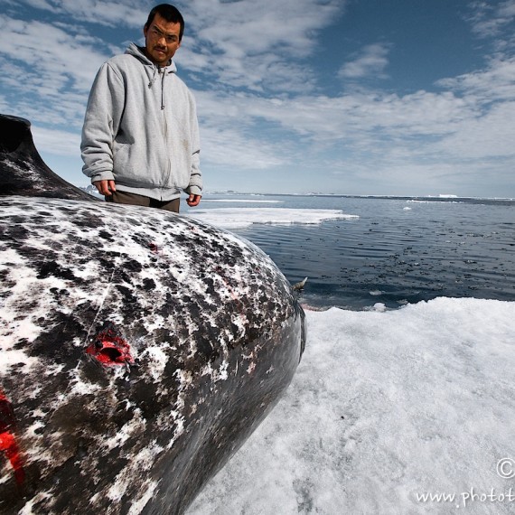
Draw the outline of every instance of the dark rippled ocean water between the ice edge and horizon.
<instances>
[{"instance_id":1,"label":"dark rippled ocean water between the ice edge and horizon","mask_svg":"<svg viewBox=\"0 0 515 515\"><path fill-rule=\"evenodd\" d=\"M515 300L515 200L314 195L206 195L204 200L208 209L358 215L318 225L231 229L262 248L291 283L307 276L301 300L314 307L396 308L438 296Z\"/></svg>"}]
</instances>

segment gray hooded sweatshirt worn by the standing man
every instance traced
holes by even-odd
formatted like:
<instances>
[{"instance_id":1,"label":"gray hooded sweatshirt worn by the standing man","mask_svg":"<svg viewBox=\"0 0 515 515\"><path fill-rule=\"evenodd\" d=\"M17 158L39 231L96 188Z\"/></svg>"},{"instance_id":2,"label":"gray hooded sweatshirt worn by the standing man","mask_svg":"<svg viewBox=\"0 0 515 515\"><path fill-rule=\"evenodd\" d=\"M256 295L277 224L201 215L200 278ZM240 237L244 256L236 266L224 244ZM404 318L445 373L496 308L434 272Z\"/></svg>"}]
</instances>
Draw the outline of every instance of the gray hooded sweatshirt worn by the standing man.
<instances>
[{"instance_id":1,"label":"gray hooded sweatshirt worn by the standing man","mask_svg":"<svg viewBox=\"0 0 515 515\"><path fill-rule=\"evenodd\" d=\"M201 194L195 100L175 71L134 43L98 70L80 145L91 183L114 180L117 190L159 201Z\"/></svg>"}]
</instances>

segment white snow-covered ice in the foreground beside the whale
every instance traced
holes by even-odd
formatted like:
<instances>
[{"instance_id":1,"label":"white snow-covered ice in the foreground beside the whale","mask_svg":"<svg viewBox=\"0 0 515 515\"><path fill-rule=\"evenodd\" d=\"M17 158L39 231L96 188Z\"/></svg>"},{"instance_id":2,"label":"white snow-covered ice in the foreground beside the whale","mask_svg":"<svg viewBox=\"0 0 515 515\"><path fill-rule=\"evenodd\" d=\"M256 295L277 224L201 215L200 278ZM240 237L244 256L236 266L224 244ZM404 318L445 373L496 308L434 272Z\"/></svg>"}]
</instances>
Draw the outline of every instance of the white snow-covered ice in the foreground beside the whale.
<instances>
[{"instance_id":1,"label":"white snow-covered ice in the foreground beside the whale","mask_svg":"<svg viewBox=\"0 0 515 515\"><path fill-rule=\"evenodd\" d=\"M188 515L515 511L515 302L306 315L285 397Z\"/></svg>"}]
</instances>

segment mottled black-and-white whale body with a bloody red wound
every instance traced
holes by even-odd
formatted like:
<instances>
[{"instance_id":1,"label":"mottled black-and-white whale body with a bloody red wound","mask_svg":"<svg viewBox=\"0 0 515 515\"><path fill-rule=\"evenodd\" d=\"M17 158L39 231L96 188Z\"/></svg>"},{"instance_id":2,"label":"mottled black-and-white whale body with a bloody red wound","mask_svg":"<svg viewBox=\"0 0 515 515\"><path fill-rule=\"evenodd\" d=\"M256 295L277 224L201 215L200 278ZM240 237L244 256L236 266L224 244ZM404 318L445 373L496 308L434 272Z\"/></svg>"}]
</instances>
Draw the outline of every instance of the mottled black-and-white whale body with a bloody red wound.
<instances>
[{"instance_id":1,"label":"mottled black-and-white whale body with a bloody red wound","mask_svg":"<svg viewBox=\"0 0 515 515\"><path fill-rule=\"evenodd\" d=\"M302 308L227 231L42 196L0 196L0 513L182 513L287 388Z\"/></svg>"}]
</instances>

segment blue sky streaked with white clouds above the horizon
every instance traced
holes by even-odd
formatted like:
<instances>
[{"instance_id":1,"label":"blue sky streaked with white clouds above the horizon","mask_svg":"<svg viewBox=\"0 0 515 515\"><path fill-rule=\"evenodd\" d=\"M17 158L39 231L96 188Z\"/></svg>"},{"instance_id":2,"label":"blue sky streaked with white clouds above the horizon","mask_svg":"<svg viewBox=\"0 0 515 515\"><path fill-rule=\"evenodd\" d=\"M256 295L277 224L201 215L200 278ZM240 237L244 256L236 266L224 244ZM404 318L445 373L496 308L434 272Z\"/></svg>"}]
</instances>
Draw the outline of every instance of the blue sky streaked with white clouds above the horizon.
<instances>
[{"instance_id":1,"label":"blue sky streaked with white clouds above the horizon","mask_svg":"<svg viewBox=\"0 0 515 515\"><path fill-rule=\"evenodd\" d=\"M102 62L155 2L2 0L0 112L77 185ZM180 0L206 192L515 197L515 0Z\"/></svg>"}]
</instances>

